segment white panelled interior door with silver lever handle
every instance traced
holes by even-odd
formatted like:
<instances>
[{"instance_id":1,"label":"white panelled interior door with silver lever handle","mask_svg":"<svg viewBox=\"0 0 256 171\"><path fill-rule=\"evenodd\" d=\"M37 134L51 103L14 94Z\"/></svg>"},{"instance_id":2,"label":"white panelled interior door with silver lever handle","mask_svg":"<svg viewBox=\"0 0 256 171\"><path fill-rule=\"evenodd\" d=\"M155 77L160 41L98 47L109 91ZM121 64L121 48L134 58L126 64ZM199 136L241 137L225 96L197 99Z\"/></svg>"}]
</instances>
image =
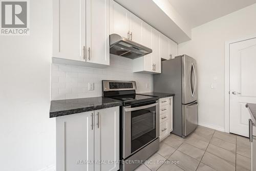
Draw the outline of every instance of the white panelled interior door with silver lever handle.
<instances>
[{"instance_id":1,"label":"white panelled interior door with silver lever handle","mask_svg":"<svg viewBox=\"0 0 256 171\"><path fill-rule=\"evenodd\" d=\"M230 44L230 132L248 137L249 111L256 103L256 38Z\"/></svg>"}]
</instances>

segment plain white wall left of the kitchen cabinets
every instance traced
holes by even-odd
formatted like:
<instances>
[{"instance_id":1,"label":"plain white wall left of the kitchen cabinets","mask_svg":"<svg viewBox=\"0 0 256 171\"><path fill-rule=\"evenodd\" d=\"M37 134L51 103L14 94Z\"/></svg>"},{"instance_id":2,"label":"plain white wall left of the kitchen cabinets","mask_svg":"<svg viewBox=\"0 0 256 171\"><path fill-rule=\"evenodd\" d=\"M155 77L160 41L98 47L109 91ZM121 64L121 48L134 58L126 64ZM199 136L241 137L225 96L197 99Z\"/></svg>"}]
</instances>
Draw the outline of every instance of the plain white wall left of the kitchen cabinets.
<instances>
[{"instance_id":1,"label":"plain white wall left of the kitchen cabinets","mask_svg":"<svg viewBox=\"0 0 256 171\"><path fill-rule=\"evenodd\" d=\"M52 170L52 1L30 1L30 35L0 36L0 170ZM48 167L48 168L47 168Z\"/></svg>"}]
</instances>

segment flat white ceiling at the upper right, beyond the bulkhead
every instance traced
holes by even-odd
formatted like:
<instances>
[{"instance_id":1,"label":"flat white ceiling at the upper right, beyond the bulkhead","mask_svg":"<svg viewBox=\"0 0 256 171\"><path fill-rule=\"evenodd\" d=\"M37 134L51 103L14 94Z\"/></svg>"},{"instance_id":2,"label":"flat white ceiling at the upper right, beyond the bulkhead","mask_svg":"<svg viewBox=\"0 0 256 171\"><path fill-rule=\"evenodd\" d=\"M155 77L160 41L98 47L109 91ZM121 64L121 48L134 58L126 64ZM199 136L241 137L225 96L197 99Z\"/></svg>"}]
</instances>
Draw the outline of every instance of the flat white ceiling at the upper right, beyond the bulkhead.
<instances>
[{"instance_id":1,"label":"flat white ceiling at the upper right, beyond the bulkhead","mask_svg":"<svg viewBox=\"0 0 256 171\"><path fill-rule=\"evenodd\" d=\"M239 9L256 0L168 0L191 27L197 27Z\"/></svg>"}]
</instances>

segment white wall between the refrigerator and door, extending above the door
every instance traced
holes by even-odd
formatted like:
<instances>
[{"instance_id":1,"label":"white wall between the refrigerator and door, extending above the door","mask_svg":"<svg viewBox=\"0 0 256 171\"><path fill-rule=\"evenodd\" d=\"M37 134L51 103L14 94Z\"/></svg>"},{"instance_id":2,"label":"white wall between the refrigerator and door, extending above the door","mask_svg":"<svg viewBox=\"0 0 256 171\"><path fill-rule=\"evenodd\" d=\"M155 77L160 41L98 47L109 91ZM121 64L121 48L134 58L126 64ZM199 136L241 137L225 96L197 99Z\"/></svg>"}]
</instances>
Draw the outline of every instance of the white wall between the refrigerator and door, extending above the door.
<instances>
[{"instance_id":1,"label":"white wall between the refrigerator and door, extending above the door","mask_svg":"<svg viewBox=\"0 0 256 171\"><path fill-rule=\"evenodd\" d=\"M199 124L224 130L225 41L255 34L255 16L256 4L192 29L192 40L178 45L197 60Z\"/></svg>"}]
</instances>

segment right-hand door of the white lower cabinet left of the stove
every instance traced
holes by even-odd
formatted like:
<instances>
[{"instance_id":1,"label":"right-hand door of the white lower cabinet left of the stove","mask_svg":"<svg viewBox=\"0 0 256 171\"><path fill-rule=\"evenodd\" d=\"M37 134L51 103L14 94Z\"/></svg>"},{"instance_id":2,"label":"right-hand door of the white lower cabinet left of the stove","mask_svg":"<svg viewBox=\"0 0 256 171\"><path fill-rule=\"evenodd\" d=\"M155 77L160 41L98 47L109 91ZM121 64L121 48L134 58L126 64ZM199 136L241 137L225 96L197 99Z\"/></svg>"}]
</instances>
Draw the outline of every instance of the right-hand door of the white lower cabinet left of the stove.
<instances>
[{"instance_id":1,"label":"right-hand door of the white lower cabinet left of the stove","mask_svg":"<svg viewBox=\"0 0 256 171\"><path fill-rule=\"evenodd\" d=\"M95 160L113 162L96 163L96 171L119 169L119 106L95 111Z\"/></svg>"}]
</instances>

